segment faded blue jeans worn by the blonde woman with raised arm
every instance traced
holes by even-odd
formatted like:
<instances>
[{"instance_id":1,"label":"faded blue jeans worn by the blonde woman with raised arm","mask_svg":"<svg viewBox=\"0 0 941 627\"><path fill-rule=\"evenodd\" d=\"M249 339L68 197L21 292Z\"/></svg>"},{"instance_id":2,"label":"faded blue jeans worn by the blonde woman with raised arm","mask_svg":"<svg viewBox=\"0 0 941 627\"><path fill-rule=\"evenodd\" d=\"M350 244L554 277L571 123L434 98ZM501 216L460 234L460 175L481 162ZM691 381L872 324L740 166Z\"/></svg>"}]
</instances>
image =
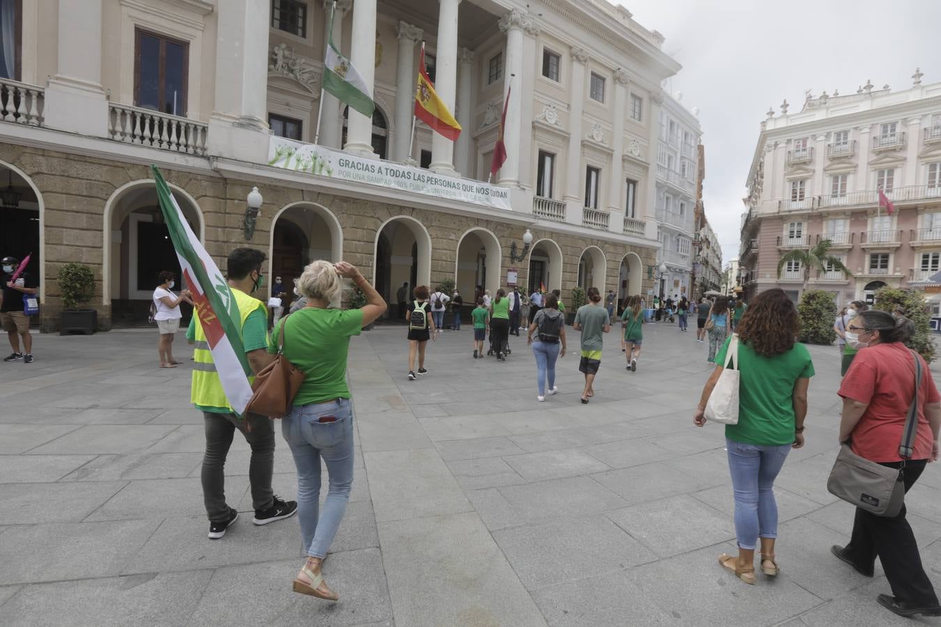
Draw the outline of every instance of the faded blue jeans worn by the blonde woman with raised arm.
<instances>
[{"instance_id":1,"label":"faded blue jeans worn by the blonde woman with raised arm","mask_svg":"<svg viewBox=\"0 0 941 627\"><path fill-rule=\"evenodd\" d=\"M324 418L336 420L322 422ZM295 407L281 420L281 434L297 466L297 517L304 550L326 557L337 534L353 485L353 412L350 401L328 400ZM320 458L327 463L330 489L320 506Z\"/></svg>"}]
</instances>

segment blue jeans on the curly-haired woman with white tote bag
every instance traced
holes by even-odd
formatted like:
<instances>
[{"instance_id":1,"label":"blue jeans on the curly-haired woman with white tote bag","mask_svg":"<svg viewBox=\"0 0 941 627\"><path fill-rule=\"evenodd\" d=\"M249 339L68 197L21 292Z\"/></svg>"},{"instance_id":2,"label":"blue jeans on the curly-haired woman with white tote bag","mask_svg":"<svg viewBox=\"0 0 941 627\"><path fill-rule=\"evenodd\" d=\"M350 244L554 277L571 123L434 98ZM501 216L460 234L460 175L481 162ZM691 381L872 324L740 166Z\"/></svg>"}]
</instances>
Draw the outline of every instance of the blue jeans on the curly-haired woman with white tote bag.
<instances>
[{"instance_id":1,"label":"blue jeans on the curly-haired woman with white tote bag","mask_svg":"<svg viewBox=\"0 0 941 627\"><path fill-rule=\"evenodd\" d=\"M777 538L774 479L788 459L790 445L757 447L726 439L728 470L735 493L735 535L742 549L758 538Z\"/></svg>"}]
</instances>

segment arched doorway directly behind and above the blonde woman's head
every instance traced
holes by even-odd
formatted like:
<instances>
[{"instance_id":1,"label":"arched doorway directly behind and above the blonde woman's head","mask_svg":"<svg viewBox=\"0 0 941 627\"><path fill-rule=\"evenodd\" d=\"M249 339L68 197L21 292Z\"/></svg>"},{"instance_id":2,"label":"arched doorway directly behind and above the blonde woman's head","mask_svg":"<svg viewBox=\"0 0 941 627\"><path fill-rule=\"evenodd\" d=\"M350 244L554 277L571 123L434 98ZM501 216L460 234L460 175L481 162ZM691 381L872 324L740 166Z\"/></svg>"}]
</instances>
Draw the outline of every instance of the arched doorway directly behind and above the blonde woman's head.
<instances>
[{"instance_id":1,"label":"arched doorway directly behind and above the blonde woman's head","mask_svg":"<svg viewBox=\"0 0 941 627\"><path fill-rule=\"evenodd\" d=\"M273 225L269 294L275 277L280 276L285 291L282 306L287 311L295 298L294 280L304 266L315 259L334 262L343 259L343 228L332 212L311 202L295 202L281 208Z\"/></svg>"}]
</instances>

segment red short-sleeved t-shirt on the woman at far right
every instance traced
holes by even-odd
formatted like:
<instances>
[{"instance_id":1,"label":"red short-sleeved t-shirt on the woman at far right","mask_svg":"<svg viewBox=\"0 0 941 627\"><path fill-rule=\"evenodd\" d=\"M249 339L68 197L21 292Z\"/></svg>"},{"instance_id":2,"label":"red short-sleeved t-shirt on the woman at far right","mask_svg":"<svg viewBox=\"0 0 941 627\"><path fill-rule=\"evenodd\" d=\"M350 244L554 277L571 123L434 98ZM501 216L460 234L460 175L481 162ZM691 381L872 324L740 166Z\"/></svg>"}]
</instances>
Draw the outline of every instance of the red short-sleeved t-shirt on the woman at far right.
<instances>
[{"instance_id":1,"label":"red short-sleeved t-shirt on the woman at far right","mask_svg":"<svg viewBox=\"0 0 941 627\"><path fill-rule=\"evenodd\" d=\"M930 460L933 434L925 403L941 400L931 370L921 359L918 427L913 460ZM839 396L869 403L853 429L853 452L872 462L900 462L899 443L915 392L915 359L901 342L877 344L856 353Z\"/></svg>"}]
</instances>

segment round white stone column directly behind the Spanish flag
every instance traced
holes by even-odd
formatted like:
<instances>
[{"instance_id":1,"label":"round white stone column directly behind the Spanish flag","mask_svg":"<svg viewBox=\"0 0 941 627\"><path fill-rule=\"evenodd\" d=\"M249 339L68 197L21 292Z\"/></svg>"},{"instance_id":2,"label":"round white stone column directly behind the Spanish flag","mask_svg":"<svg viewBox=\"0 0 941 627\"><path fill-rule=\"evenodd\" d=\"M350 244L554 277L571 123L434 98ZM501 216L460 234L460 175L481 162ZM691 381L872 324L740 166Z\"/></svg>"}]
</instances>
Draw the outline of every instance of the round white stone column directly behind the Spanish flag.
<instances>
[{"instance_id":1,"label":"round white stone column directly behind the Spanish flag","mask_svg":"<svg viewBox=\"0 0 941 627\"><path fill-rule=\"evenodd\" d=\"M435 57L435 91L452 113L457 93L457 6L461 0L439 0L438 55ZM463 133L469 133L464 131ZM455 173L455 142L431 135L431 169L441 174Z\"/></svg>"}]
</instances>

